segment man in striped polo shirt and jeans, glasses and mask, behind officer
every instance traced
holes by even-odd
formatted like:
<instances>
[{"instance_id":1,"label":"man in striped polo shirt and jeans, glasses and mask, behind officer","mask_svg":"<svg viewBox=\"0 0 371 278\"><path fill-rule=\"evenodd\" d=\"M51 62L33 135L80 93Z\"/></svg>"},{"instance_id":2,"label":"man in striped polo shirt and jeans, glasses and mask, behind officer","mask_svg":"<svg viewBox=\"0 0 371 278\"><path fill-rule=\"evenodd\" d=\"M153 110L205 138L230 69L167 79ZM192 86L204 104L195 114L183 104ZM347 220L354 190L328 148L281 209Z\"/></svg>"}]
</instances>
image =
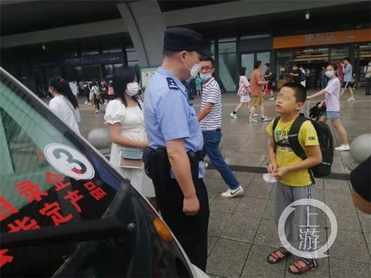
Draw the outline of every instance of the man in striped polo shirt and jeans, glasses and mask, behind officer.
<instances>
[{"instance_id":1,"label":"man in striped polo shirt and jeans, glasses and mask, behind officer","mask_svg":"<svg viewBox=\"0 0 371 278\"><path fill-rule=\"evenodd\" d=\"M203 56L200 59L202 66L200 78L203 81L201 112L197 115L203 137L203 150L211 163L222 175L229 189L223 192L223 198L233 198L243 195L243 188L227 165L219 150L222 139L222 93L218 82L214 79L214 59Z\"/></svg>"}]
</instances>

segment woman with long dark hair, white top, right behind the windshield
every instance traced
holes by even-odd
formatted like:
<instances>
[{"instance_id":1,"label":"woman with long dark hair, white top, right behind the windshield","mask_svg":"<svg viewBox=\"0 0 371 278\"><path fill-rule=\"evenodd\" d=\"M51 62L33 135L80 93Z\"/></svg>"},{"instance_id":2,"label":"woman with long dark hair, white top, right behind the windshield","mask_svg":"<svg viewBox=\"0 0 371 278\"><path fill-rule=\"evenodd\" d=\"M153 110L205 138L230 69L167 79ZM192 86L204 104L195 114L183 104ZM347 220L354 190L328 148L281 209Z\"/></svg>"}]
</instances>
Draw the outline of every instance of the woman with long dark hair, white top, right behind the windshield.
<instances>
[{"instance_id":1,"label":"woman with long dark hair, white top, right behind the windshield","mask_svg":"<svg viewBox=\"0 0 371 278\"><path fill-rule=\"evenodd\" d=\"M67 81L60 77L52 78L49 81L49 93L53 95L49 108L71 129L80 134L77 125L80 122L79 104Z\"/></svg>"}]
</instances>

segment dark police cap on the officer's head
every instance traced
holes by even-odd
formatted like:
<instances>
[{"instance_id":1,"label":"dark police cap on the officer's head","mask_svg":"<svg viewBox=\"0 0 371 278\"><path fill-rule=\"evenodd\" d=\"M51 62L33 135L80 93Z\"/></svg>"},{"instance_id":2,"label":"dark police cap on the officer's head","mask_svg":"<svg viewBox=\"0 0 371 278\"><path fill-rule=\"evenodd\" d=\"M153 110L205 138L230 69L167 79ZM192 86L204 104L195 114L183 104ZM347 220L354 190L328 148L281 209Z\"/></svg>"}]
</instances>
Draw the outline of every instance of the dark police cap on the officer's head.
<instances>
[{"instance_id":1,"label":"dark police cap on the officer's head","mask_svg":"<svg viewBox=\"0 0 371 278\"><path fill-rule=\"evenodd\" d=\"M210 55L205 47L201 34L183 27L168 28L164 36L164 50L169 51L197 51L203 55Z\"/></svg>"}]
</instances>

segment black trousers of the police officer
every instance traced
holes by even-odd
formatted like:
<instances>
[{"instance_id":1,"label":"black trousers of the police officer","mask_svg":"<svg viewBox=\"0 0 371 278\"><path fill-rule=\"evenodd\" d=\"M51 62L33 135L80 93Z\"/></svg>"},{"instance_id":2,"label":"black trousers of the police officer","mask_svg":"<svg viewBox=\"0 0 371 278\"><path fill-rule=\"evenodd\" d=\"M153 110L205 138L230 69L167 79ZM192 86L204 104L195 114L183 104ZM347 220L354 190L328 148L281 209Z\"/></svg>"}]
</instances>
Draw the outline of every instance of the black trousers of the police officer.
<instances>
[{"instance_id":1,"label":"black trousers of the police officer","mask_svg":"<svg viewBox=\"0 0 371 278\"><path fill-rule=\"evenodd\" d=\"M209 199L202 179L193 181L200 210L194 216L183 212L183 192L175 179L164 185L153 182L161 215L177 237L192 264L206 271Z\"/></svg>"}]
</instances>

